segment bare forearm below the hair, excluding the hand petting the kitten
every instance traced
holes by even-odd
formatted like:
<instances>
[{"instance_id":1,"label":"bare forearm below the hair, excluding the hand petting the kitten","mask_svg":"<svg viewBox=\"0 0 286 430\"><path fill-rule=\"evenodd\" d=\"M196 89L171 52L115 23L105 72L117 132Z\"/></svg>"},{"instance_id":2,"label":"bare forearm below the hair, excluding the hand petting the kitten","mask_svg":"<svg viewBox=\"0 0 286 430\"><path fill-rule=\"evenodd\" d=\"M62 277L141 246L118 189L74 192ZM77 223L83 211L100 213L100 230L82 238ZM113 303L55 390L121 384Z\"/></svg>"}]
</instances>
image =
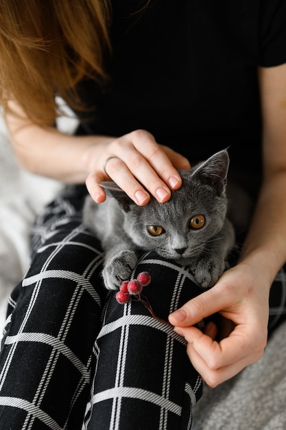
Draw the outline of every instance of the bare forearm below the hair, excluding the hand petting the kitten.
<instances>
[{"instance_id":1,"label":"bare forearm below the hair, excluding the hand petting the kitten","mask_svg":"<svg viewBox=\"0 0 286 430\"><path fill-rule=\"evenodd\" d=\"M19 112L20 115L22 113ZM23 168L66 183L84 183L97 151L114 138L71 136L14 115L5 117L14 153Z\"/></svg>"}]
</instances>

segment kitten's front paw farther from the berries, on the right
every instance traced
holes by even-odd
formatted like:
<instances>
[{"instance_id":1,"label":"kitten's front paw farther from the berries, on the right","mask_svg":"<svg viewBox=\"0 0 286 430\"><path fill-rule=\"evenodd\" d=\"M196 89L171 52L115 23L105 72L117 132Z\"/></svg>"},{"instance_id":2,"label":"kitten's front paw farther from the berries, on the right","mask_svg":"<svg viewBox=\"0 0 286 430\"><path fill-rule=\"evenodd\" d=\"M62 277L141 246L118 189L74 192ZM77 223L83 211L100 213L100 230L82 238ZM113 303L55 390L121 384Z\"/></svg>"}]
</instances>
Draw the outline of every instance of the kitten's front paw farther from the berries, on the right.
<instances>
[{"instance_id":1,"label":"kitten's front paw farther from the berries, on the right","mask_svg":"<svg viewBox=\"0 0 286 430\"><path fill-rule=\"evenodd\" d=\"M201 258L191 271L202 288L211 288L224 271L224 260Z\"/></svg>"}]
</instances>

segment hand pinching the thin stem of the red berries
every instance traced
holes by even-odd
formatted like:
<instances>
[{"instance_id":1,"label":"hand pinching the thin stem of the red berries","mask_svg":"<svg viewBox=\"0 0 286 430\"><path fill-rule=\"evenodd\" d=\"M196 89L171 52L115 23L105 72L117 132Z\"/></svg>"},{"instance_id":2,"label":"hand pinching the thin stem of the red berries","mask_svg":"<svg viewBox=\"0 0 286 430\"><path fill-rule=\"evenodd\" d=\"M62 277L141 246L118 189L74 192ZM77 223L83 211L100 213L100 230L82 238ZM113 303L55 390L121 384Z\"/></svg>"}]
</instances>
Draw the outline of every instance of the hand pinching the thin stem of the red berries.
<instances>
[{"instance_id":1,"label":"hand pinching the thin stem of the red berries","mask_svg":"<svg viewBox=\"0 0 286 430\"><path fill-rule=\"evenodd\" d=\"M174 330L188 342L187 354L211 387L226 381L259 360L267 341L269 284L259 268L240 263L226 271L210 290L169 316ZM217 328L208 323L204 333L193 324L219 312L233 321L228 337L216 341Z\"/></svg>"}]
</instances>

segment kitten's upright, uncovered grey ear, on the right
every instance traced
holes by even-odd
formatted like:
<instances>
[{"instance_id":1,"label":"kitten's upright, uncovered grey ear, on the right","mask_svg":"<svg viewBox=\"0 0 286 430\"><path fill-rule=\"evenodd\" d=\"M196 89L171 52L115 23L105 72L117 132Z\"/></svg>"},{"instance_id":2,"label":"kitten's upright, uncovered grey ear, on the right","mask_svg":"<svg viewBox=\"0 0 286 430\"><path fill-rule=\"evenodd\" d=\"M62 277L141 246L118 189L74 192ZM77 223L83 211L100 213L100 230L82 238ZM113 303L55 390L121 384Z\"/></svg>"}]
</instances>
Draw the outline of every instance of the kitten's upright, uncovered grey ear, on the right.
<instances>
[{"instance_id":1,"label":"kitten's upright, uncovered grey ear, on the right","mask_svg":"<svg viewBox=\"0 0 286 430\"><path fill-rule=\"evenodd\" d=\"M203 183L215 187L217 192L222 192L226 187L228 166L228 152L224 149L204 161L193 175Z\"/></svg>"}]
</instances>

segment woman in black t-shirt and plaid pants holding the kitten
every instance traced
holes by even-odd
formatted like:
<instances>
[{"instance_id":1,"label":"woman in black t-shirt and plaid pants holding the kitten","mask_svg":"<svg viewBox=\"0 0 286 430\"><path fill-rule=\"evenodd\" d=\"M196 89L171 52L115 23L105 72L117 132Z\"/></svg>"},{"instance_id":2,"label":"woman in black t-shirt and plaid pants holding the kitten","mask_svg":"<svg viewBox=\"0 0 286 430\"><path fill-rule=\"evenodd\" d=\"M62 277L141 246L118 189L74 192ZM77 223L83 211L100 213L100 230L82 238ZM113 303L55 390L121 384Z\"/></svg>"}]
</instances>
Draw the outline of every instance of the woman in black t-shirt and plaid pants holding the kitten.
<instances>
[{"instance_id":1,"label":"woman in black t-shirt and plaid pants holding the kitten","mask_svg":"<svg viewBox=\"0 0 286 430\"><path fill-rule=\"evenodd\" d=\"M32 264L12 294L1 427L79 429L91 400L88 429L189 428L197 371L215 386L261 358L270 286L283 297L285 2L15 0L0 2L0 16L16 157L71 184L38 217ZM57 93L80 118L74 136L54 127ZM86 193L73 184L86 181L97 203L110 178L139 205L150 194L164 203L180 188L177 168L226 146L230 174L256 199L239 262L191 299L180 268L143 258L138 271L150 269L156 286L148 298L175 332L155 327L138 303L107 296L100 244L81 223ZM235 326L219 342L213 322L193 326L217 312Z\"/></svg>"}]
</instances>

